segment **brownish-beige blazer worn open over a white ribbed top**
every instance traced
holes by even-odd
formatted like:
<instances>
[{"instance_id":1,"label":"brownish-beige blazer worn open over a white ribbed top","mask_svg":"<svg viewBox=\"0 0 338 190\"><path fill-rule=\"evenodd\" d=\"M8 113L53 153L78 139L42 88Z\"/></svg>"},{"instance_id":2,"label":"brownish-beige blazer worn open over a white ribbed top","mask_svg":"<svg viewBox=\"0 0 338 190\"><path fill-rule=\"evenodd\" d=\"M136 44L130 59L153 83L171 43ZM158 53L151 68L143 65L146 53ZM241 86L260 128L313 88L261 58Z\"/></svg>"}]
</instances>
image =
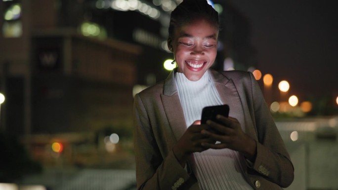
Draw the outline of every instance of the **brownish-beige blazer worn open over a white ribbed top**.
<instances>
[{"instance_id":1,"label":"brownish-beige blazer worn open over a white ribbed top","mask_svg":"<svg viewBox=\"0 0 338 190\"><path fill-rule=\"evenodd\" d=\"M263 95L250 72L209 70L229 116L257 142L255 162L244 174L256 190L281 190L294 179L294 167ZM184 169L172 148L187 126L174 79L149 87L134 99L134 150L138 190L200 190L190 167Z\"/></svg>"}]
</instances>

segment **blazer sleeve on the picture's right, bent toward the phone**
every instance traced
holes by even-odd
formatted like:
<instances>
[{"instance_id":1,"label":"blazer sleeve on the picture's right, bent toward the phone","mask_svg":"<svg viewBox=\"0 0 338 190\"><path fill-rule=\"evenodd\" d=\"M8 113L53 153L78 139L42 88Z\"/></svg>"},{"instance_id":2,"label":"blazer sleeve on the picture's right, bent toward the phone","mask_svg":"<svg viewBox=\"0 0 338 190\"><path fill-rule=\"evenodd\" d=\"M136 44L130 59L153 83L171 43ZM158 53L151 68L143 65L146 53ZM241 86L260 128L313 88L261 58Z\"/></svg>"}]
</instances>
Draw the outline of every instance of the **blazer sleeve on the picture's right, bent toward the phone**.
<instances>
[{"instance_id":1,"label":"blazer sleeve on the picture's right, bent toward the phone","mask_svg":"<svg viewBox=\"0 0 338 190\"><path fill-rule=\"evenodd\" d=\"M251 169L265 179L286 188L294 180L294 166L260 87L251 73L250 81L252 91L250 99L253 105L253 112L250 114L258 135L257 154Z\"/></svg>"}]
</instances>

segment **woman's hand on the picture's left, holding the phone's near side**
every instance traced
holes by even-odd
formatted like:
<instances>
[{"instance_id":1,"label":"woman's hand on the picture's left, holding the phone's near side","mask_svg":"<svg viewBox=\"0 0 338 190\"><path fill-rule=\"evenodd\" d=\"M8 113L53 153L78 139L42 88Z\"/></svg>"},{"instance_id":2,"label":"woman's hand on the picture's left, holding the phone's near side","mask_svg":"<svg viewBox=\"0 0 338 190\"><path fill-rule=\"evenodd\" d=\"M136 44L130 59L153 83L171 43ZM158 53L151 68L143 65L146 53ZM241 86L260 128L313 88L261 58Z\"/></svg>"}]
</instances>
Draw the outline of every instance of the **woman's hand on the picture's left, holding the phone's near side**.
<instances>
[{"instance_id":1,"label":"woman's hand on the picture's left, holding the phone's near side","mask_svg":"<svg viewBox=\"0 0 338 190\"><path fill-rule=\"evenodd\" d=\"M208 125L202 124L200 120L196 120L184 132L182 137L178 140L173 148L173 153L178 162L184 167L187 162L189 154L193 152L203 152L209 148L203 147L202 143L215 143L214 140L208 138L206 135L201 134L201 131L208 130Z\"/></svg>"}]
</instances>

